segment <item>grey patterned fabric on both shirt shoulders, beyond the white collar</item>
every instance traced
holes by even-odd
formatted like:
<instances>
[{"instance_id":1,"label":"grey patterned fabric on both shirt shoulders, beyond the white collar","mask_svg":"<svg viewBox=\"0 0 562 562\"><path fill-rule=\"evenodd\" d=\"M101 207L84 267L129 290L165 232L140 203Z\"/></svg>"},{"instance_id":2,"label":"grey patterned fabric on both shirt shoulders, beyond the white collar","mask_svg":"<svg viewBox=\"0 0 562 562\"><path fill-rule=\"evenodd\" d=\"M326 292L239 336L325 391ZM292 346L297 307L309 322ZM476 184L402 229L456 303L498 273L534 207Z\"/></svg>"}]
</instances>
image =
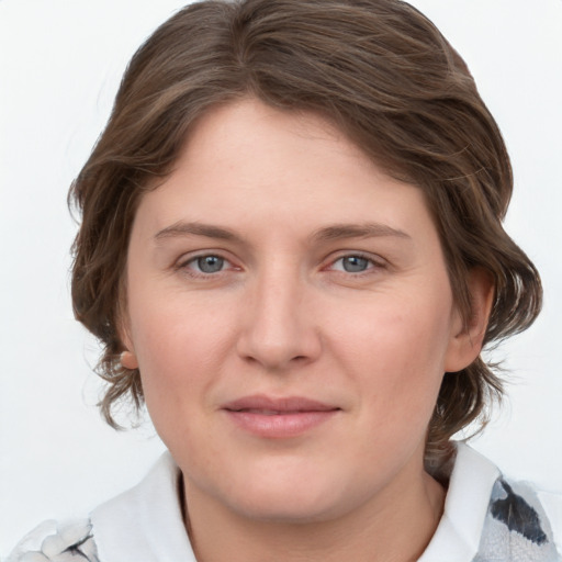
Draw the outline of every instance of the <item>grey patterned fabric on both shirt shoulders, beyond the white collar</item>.
<instances>
[{"instance_id":1,"label":"grey patterned fabric on both shirt shoulders, beyond the white collar","mask_svg":"<svg viewBox=\"0 0 562 562\"><path fill-rule=\"evenodd\" d=\"M498 479L473 562L561 561L535 492L526 485ZM90 521L81 520L67 525L42 524L20 542L5 562L103 561L98 559Z\"/></svg>"}]
</instances>

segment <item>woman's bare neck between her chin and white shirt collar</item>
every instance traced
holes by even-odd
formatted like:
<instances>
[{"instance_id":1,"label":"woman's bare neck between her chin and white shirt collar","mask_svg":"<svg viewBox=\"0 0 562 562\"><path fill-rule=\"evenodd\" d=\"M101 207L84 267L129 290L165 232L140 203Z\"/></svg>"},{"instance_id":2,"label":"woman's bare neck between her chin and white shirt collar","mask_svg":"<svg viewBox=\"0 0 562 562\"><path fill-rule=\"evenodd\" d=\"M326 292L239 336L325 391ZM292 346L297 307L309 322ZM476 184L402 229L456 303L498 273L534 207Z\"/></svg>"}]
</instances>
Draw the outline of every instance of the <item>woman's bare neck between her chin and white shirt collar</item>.
<instances>
[{"instance_id":1,"label":"woman's bare neck between her chin and white shirt collar","mask_svg":"<svg viewBox=\"0 0 562 562\"><path fill-rule=\"evenodd\" d=\"M437 529L445 490L423 471L395 484L352 513L304 522L247 518L188 485L187 528L200 562L411 562Z\"/></svg>"}]
</instances>

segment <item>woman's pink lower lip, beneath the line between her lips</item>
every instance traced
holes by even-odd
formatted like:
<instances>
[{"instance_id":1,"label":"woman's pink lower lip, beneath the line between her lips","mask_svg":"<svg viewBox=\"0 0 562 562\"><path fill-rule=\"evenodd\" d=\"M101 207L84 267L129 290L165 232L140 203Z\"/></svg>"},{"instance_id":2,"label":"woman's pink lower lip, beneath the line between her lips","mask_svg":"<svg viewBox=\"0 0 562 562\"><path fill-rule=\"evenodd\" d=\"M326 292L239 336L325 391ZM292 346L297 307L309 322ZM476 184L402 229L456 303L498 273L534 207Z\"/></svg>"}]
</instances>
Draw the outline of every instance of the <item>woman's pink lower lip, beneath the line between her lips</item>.
<instances>
[{"instance_id":1,"label":"woman's pink lower lip, beneath the line between her lips","mask_svg":"<svg viewBox=\"0 0 562 562\"><path fill-rule=\"evenodd\" d=\"M254 412L225 411L228 417L240 429L259 437L283 439L296 437L331 419L337 409L291 412L268 416Z\"/></svg>"}]
</instances>

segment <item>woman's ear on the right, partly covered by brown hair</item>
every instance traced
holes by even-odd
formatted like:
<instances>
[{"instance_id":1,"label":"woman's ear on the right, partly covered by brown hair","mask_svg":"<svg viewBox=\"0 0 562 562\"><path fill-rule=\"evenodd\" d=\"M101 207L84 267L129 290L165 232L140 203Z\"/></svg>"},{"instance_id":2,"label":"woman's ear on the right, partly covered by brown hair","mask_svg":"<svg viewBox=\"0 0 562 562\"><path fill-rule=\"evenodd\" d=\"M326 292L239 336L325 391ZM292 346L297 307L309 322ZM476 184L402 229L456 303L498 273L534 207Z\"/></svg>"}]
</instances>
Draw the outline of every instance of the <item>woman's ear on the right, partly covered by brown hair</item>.
<instances>
[{"instance_id":1,"label":"woman's ear on the right, partly covered by brown hair","mask_svg":"<svg viewBox=\"0 0 562 562\"><path fill-rule=\"evenodd\" d=\"M482 350L490 313L494 302L492 276L482 268L473 268L469 273L471 315L463 322L456 313L451 340L445 360L446 372L458 372L471 364Z\"/></svg>"}]
</instances>

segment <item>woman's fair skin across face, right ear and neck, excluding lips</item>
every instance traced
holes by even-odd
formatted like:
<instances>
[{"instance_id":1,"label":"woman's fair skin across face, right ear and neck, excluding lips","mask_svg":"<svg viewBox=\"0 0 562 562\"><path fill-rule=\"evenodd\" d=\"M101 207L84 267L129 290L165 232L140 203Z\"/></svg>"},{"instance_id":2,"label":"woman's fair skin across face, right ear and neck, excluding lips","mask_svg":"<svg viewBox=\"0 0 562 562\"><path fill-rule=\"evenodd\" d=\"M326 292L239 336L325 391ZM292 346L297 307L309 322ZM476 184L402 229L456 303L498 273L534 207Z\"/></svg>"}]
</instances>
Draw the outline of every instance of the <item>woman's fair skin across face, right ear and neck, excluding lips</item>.
<instances>
[{"instance_id":1,"label":"woman's fair skin across face, right ear and neck, excluding lips","mask_svg":"<svg viewBox=\"0 0 562 562\"><path fill-rule=\"evenodd\" d=\"M423 552L445 501L424 471L427 426L490 308L484 276L470 285L467 327L422 191L321 117L248 99L199 121L139 204L123 328L123 362L183 474L198 560ZM335 412L255 435L224 408L255 394Z\"/></svg>"}]
</instances>

